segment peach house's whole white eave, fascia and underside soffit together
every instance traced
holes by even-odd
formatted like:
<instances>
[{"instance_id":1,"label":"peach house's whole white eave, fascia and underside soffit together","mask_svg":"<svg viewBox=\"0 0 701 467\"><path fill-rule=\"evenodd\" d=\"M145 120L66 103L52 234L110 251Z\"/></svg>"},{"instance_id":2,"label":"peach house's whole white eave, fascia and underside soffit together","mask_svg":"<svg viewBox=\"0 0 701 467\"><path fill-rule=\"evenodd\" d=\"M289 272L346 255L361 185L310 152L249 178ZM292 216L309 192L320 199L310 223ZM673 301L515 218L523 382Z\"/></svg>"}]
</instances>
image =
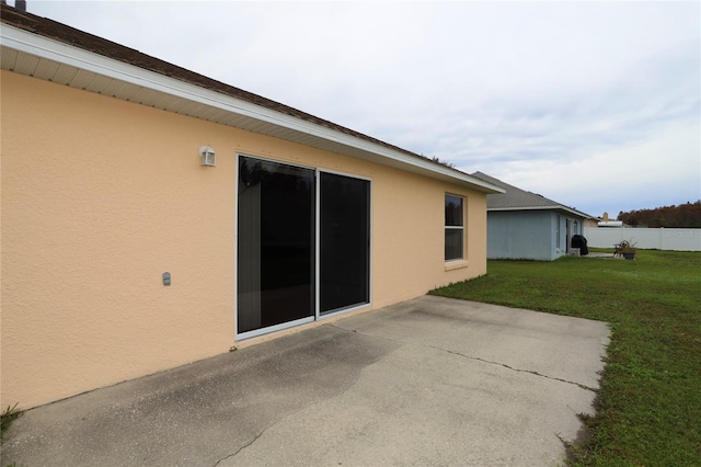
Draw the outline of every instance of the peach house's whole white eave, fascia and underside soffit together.
<instances>
[{"instance_id":1,"label":"peach house's whole white eave, fascia and underside soffit together","mask_svg":"<svg viewBox=\"0 0 701 467\"><path fill-rule=\"evenodd\" d=\"M485 193L504 190L420 157L2 24L2 69L319 149Z\"/></svg>"}]
</instances>

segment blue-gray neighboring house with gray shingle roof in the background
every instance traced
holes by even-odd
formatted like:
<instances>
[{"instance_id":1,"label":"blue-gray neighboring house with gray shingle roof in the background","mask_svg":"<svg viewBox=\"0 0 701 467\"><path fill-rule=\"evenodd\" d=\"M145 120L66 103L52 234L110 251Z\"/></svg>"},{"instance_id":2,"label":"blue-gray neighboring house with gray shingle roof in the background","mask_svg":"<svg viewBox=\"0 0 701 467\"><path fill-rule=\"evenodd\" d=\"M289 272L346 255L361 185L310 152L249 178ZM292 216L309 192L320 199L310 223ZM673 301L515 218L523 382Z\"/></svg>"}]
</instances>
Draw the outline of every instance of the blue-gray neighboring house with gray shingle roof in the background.
<instances>
[{"instance_id":1,"label":"blue-gray neighboring house with gray shingle roof in the background","mask_svg":"<svg viewBox=\"0 0 701 467\"><path fill-rule=\"evenodd\" d=\"M487 258L552 261L567 254L588 214L475 172L505 193L489 194Z\"/></svg>"}]
</instances>

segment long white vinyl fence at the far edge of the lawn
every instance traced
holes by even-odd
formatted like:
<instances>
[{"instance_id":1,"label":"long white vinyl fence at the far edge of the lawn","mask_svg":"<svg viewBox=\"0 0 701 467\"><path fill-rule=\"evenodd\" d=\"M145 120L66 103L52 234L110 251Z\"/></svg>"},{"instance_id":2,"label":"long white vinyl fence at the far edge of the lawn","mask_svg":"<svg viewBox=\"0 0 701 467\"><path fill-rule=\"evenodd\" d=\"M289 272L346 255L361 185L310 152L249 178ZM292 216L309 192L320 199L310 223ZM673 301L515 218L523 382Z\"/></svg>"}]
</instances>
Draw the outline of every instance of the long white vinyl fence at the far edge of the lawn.
<instances>
[{"instance_id":1,"label":"long white vinyl fence at the far edge of the lawn","mask_svg":"<svg viewBox=\"0 0 701 467\"><path fill-rule=\"evenodd\" d=\"M612 248L622 240L637 248L654 250L701 251L701 229L637 229L585 227L588 247Z\"/></svg>"}]
</instances>

